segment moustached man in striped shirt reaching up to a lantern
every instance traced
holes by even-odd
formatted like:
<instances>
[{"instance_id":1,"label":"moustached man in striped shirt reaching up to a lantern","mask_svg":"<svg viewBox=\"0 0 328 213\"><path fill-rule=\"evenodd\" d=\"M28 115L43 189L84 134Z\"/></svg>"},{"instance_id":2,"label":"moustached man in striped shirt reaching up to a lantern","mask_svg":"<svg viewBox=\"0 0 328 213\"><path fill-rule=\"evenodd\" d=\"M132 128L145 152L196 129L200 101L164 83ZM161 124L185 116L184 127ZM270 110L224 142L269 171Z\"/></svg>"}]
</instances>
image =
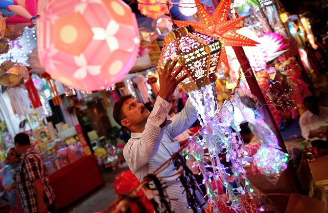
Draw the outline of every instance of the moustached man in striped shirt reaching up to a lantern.
<instances>
[{"instance_id":1,"label":"moustached man in striped shirt reaching up to a lantern","mask_svg":"<svg viewBox=\"0 0 328 213\"><path fill-rule=\"evenodd\" d=\"M185 108L175 116L174 121L166 118L172 107L169 102L171 95L177 85L187 77L185 75L177 78L184 66L180 65L174 72L173 68L177 62L177 60L172 62L169 59L164 68L160 68L160 86L165 89L159 91L151 113L132 96L121 97L114 106L115 121L131 131L131 139L125 145L123 154L130 170L140 181L169 159L172 153L187 146L187 143L179 144L173 138L189 128L198 118L197 111L189 100ZM182 184L173 164L162 170L158 176L164 177L163 182L167 186L165 191L171 202L171 210L173 212L192 212L188 208L186 193L184 188L180 187ZM200 190L196 194L201 206L199 212L201 212L207 203ZM155 197L155 200L159 203L158 197ZM161 208L161 205L159 206ZM160 210L160 212L162 211Z\"/></svg>"}]
</instances>

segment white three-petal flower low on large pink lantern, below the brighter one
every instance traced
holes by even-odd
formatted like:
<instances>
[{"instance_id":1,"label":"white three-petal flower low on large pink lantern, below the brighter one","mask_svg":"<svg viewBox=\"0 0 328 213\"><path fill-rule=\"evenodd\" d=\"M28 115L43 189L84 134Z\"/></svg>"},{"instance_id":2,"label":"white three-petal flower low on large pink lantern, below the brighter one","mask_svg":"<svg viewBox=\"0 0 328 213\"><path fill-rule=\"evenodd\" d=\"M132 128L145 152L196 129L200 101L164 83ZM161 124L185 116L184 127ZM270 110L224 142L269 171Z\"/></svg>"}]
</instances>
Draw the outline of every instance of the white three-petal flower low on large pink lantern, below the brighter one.
<instances>
[{"instance_id":1,"label":"white three-petal flower low on large pink lantern, below the brighter one","mask_svg":"<svg viewBox=\"0 0 328 213\"><path fill-rule=\"evenodd\" d=\"M76 79L85 79L87 74L90 75L99 75L100 74L100 66L98 65L88 65L88 62L83 54L80 56L74 56L74 62L80 68L75 71L74 78Z\"/></svg>"}]
</instances>

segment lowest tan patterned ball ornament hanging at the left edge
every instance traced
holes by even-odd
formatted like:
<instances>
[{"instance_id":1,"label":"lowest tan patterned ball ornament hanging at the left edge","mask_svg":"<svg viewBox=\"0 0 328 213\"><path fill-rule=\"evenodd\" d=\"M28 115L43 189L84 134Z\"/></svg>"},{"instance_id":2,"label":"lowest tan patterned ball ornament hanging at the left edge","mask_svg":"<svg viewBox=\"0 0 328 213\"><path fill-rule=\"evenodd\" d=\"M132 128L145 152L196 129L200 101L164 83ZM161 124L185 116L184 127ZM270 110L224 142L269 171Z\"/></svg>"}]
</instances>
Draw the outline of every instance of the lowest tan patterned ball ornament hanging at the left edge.
<instances>
[{"instance_id":1,"label":"lowest tan patterned ball ornament hanging at the left edge","mask_svg":"<svg viewBox=\"0 0 328 213\"><path fill-rule=\"evenodd\" d=\"M28 70L24 64L6 61L0 66L0 85L17 86L28 80Z\"/></svg>"}]
</instances>

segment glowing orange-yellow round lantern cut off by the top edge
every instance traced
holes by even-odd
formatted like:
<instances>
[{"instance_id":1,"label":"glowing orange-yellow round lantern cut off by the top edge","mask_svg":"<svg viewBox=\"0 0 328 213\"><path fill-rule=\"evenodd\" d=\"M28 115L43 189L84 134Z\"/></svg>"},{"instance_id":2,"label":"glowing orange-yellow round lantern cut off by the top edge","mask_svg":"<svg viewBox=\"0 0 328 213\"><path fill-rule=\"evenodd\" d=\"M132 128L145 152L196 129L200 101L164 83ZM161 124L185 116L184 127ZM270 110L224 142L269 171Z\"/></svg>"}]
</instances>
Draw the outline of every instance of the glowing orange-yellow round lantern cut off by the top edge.
<instances>
[{"instance_id":1,"label":"glowing orange-yellow round lantern cut off by the top edge","mask_svg":"<svg viewBox=\"0 0 328 213\"><path fill-rule=\"evenodd\" d=\"M138 9L140 10L141 14L146 17L159 19L164 17L165 14L169 14L165 2L171 3L171 0L165 0L162 2L163 4L159 3L158 0L138 0Z\"/></svg>"}]
</instances>

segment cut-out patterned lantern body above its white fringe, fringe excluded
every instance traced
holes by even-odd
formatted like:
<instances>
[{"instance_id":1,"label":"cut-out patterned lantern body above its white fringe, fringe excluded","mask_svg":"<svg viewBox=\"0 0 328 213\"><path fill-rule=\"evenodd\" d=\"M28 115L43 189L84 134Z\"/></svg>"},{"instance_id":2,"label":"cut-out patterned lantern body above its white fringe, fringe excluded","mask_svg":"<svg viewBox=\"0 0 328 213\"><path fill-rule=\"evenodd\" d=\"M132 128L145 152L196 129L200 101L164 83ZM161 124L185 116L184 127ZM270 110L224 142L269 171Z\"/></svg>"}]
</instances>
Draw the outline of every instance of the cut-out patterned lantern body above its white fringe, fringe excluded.
<instances>
[{"instance_id":1,"label":"cut-out patterned lantern body above its white fringe, fringe excluded","mask_svg":"<svg viewBox=\"0 0 328 213\"><path fill-rule=\"evenodd\" d=\"M174 71L184 63L178 77L188 75L179 86L184 91L198 90L216 81L220 50L220 41L196 32L191 26L178 28L164 38L158 66L163 68L170 58L179 59Z\"/></svg>"}]
</instances>

